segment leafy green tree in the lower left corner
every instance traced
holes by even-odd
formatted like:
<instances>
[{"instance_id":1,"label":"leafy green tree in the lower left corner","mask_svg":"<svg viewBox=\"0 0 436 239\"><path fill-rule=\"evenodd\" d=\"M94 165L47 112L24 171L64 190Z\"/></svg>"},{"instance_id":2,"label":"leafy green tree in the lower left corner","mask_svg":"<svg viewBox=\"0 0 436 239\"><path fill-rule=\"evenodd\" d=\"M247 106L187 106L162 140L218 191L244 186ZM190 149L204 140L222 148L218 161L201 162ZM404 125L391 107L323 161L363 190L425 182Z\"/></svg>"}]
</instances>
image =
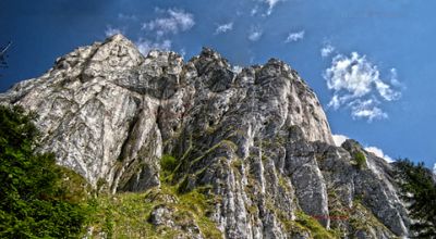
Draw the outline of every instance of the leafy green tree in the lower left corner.
<instances>
[{"instance_id":1,"label":"leafy green tree in the lower left corner","mask_svg":"<svg viewBox=\"0 0 436 239\"><path fill-rule=\"evenodd\" d=\"M20 106L0 105L0 238L66 238L85 219L64 188L68 171L53 154L35 151L35 118Z\"/></svg>"}]
</instances>

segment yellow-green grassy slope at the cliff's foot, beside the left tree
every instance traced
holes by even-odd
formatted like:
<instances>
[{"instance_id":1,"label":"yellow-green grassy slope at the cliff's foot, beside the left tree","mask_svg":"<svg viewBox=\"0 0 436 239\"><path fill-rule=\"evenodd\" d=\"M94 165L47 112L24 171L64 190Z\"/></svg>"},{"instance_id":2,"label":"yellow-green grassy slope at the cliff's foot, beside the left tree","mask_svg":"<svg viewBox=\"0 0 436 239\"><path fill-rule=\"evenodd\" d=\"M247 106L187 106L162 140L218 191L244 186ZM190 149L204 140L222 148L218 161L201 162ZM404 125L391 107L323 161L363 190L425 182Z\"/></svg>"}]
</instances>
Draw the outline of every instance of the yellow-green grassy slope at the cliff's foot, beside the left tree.
<instances>
[{"instance_id":1,"label":"yellow-green grassy slope at the cliff's foot, beside the left tree","mask_svg":"<svg viewBox=\"0 0 436 239\"><path fill-rule=\"evenodd\" d=\"M205 238L221 238L215 223L207 217L216 200L207 194L208 187L199 187L185 192L184 184L171 185L167 180L173 177L177 160L171 155L164 155L161 163L161 185L146 192L124 192L116 196L100 196L88 204L90 216L88 227L94 228L92 235L104 234L107 238L174 238L186 235L183 228L197 225ZM150 223L150 214L157 206L165 206L171 211L171 218L175 226Z\"/></svg>"}]
</instances>

